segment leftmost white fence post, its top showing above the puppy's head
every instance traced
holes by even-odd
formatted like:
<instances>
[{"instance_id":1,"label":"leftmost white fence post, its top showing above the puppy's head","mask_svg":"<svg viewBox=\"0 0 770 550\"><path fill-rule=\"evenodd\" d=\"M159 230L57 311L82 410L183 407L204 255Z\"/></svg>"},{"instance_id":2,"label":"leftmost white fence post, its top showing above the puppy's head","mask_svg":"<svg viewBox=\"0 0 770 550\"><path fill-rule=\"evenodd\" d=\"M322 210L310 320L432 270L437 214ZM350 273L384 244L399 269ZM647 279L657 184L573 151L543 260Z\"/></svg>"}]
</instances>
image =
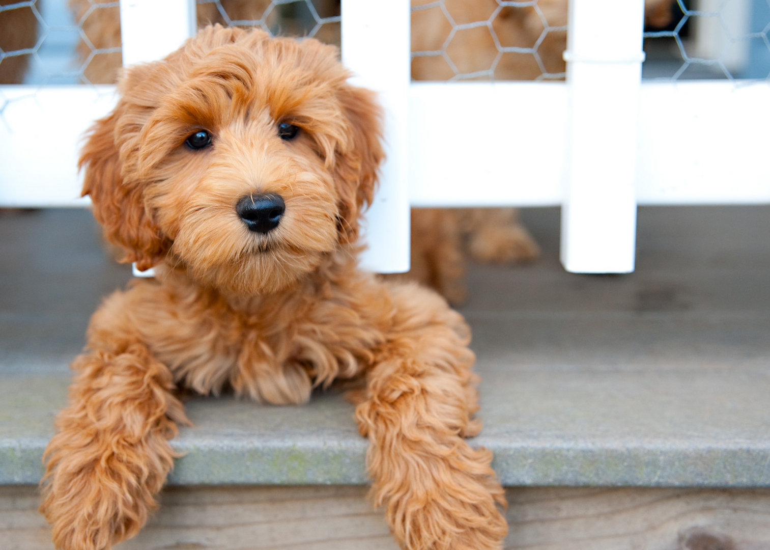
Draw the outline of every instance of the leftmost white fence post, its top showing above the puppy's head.
<instances>
[{"instance_id":1,"label":"leftmost white fence post, its top showing above the puppy's head","mask_svg":"<svg viewBox=\"0 0 770 550\"><path fill-rule=\"evenodd\" d=\"M124 66L162 59L195 32L195 0L120 0Z\"/></svg>"}]
</instances>

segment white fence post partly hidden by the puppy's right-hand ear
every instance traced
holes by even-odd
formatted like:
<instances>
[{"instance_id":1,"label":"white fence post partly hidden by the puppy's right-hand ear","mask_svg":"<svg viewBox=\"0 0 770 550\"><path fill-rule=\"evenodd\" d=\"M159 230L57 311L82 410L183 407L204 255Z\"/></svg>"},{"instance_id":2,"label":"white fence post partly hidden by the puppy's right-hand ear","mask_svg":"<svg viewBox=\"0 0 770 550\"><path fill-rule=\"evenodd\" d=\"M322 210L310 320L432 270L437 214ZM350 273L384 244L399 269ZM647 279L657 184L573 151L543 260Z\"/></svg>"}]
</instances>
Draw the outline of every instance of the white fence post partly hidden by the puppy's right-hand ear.
<instances>
[{"instance_id":1,"label":"white fence post partly hidden by the puppy's right-hand ear","mask_svg":"<svg viewBox=\"0 0 770 550\"><path fill-rule=\"evenodd\" d=\"M377 273L409 270L407 148L410 86L410 3L342 2L342 59L351 82L378 92L385 109L385 152L380 190L367 211L362 265Z\"/></svg>"}]
</instances>

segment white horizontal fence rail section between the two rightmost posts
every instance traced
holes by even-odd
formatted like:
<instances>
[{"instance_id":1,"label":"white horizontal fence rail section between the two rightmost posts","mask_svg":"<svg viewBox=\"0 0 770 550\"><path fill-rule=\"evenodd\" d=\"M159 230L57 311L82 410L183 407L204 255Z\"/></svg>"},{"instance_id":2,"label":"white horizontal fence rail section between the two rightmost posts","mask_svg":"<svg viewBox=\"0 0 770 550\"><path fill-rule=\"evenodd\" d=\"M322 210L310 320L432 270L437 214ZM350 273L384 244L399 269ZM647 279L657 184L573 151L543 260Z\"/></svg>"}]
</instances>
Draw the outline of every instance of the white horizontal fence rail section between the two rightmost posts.
<instances>
[{"instance_id":1,"label":"white horizontal fence rail section between the two rightmost posts","mask_svg":"<svg viewBox=\"0 0 770 550\"><path fill-rule=\"evenodd\" d=\"M564 82L413 82L412 206L557 206Z\"/></svg>"}]
</instances>

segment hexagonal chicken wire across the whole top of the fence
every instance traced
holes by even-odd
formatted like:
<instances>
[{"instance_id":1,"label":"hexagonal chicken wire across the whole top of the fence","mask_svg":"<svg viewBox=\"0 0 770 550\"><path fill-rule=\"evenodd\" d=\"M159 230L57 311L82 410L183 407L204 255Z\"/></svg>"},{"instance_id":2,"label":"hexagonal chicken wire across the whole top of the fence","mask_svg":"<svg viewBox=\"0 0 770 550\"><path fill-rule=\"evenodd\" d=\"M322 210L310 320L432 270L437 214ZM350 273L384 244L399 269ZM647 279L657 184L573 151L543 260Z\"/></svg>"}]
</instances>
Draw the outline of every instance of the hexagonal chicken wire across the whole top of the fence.
<instances>
[{"instance_id":1,"label":"hexagonal chicken wire across the whole top of the fence","mask_svg":"<svg viewBox=\"0 0 770 550\"><path fill-rule=\"evenodd\" d=\"M199 0L198 22L339 45L340 0ZM645 23L644 78L770 74L770 0L647 0ZM566 44L567 0L412 2L416 80L563 79ZM119 66L116 0L0 0L0 83L109 83Z\"/></svg>"}]
</instances>

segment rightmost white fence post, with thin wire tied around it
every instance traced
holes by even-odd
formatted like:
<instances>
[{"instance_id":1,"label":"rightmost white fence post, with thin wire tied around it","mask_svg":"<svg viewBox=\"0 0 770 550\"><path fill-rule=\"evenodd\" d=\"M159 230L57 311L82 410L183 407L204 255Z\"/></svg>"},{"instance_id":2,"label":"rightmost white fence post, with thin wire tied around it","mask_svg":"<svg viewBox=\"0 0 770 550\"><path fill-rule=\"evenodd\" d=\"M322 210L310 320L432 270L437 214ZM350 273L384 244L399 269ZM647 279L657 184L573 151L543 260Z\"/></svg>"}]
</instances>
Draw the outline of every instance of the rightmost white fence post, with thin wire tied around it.
<instances>
[{"instance_id":1,"label":"rightmost white fence post, with thin wire tied around it","mask_svg":"<svg viewBox=\"0 0 770 550\"><path fill-rule=\"evenodd\" d=\"M567 182L561 263L574 273L634 270L644 0L571 0Z\"/></svg>"}]
</instances>

